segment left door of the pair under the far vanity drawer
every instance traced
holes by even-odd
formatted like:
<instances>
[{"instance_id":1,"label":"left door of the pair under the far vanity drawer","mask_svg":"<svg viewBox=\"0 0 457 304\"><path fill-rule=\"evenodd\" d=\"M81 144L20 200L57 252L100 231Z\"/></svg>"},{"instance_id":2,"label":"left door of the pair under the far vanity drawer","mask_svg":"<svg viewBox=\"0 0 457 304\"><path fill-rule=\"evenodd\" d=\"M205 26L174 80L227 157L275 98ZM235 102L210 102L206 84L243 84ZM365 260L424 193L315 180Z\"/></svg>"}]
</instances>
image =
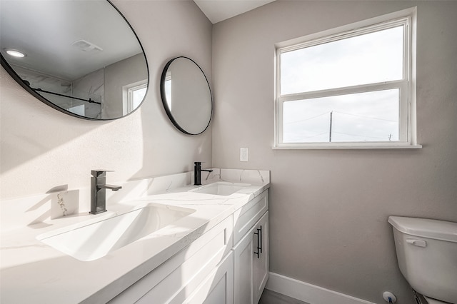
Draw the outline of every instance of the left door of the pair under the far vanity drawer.
<instances>
[{"instance_id":1,"label":"left door of the pair under the far vanity drawer","mask_svg":"<svg viewBox=\"0 0 457 304\"><path fill-rule=\"evenodd\" d=\"M254 231L255 227L251 228L233 248L233 292L236 304L253 304L253 254L257 248Z\"/></svg>"}]
</instances>

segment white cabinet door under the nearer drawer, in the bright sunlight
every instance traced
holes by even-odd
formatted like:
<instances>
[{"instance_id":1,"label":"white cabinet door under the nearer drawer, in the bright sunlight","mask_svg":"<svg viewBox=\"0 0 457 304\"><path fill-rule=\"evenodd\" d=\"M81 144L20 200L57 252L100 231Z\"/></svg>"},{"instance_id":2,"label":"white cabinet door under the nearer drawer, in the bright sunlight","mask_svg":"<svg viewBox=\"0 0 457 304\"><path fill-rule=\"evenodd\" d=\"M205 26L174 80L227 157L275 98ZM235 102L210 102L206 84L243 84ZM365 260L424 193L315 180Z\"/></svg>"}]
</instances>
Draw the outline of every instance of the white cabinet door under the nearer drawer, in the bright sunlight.
<instances>
[{"instance_id":1,"label":"white cabinet door under the nearer drawer, in the bright sunlight","mask_svg":"<svg viewBox=\"0 0 457 304\"><path fill-rule=\"evenodd\" d=\"M233 253L226 256L184 304L233 304Z\"/></svg>"}]
</instances>

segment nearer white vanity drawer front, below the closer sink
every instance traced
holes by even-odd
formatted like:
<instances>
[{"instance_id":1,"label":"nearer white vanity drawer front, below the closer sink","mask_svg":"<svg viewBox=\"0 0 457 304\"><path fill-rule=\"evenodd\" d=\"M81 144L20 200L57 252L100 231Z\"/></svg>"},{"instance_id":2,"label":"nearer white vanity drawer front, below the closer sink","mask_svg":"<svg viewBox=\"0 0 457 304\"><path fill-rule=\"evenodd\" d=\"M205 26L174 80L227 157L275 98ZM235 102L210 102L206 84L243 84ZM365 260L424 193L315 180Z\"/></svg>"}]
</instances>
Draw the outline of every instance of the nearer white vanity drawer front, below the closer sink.
<instances>
[{"instance_id":1,"label":"nearer white vanity drawer front, below the closer sink","mask_svg":"<svg viewBox=\"0 0 457 304\"><path fill-rule=\"evenodd\" d=\"M232 221L226 218L109 303L182 303L230 252Z\"/></svg>"}]
</instances>

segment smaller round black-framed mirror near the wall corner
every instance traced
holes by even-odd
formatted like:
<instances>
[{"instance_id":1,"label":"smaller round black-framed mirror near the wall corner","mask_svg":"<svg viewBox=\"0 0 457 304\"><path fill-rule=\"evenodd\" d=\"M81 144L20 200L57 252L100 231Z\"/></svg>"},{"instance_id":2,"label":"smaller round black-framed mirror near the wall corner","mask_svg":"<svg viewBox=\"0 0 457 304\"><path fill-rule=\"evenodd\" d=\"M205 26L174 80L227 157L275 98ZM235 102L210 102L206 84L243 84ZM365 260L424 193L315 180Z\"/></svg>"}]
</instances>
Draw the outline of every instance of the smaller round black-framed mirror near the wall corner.
<instances>
[{"instance_id":1,"label":"smaller round black-framed mirror near the wall corner","mask_svg":"<svg viewBox=\"0 0 457 304\"><path fill-rule=\"evenodd\" d=\"M211 90L195 61L184 56L171 59L162 73L160 91L165 111L179 131L197 135L208 128L213 113Z\"/></svg>"}]
</instances>

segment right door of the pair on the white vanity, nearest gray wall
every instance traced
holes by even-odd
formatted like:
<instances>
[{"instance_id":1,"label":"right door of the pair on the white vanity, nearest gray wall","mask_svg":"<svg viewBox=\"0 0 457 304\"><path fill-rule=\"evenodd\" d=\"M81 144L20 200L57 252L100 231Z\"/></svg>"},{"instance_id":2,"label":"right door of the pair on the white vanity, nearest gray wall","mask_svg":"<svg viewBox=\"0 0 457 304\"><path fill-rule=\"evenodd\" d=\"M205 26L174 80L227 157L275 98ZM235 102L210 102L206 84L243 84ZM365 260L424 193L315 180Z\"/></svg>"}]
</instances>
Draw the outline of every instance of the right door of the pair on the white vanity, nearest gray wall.
<instances>
[{"instance_id":1,"label":"right door of the pair on the white vanity, nearest gray wall","mask_svg":"<svg viewBox=\"0 0 457 304\"><path fill-rule=\"evenodd\" d=\"M258 254L253 256L253 294L254 303L258 303L268 280L269 255L268 255L268 211L256 225L253 244L256 245ZM258 246L257 246L258 245ZM255 249L256 249L255 248Z\"/></svg>"}]
</instances>

